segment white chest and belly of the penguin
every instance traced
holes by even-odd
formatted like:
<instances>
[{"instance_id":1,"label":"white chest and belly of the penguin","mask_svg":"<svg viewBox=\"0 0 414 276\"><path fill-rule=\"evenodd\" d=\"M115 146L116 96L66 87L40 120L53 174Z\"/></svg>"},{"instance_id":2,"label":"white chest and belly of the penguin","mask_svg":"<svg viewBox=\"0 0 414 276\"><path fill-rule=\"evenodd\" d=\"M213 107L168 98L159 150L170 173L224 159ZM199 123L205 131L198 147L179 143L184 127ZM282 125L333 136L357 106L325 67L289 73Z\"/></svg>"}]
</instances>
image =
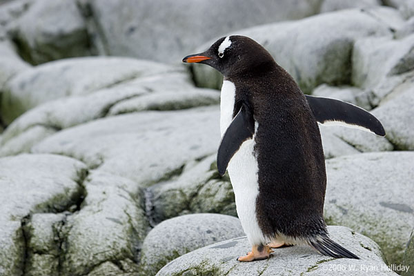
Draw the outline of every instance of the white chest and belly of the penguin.
<instances>
[{"instance_id":1,"label":"white chest and belly of the penguin","mask_svg":"<svg viewBox=\"0 0 414 276\"><path fill-rule=\"evenodd\" d=\"M230 81L223 81L220 101L220 130L221 136L230 125L235 104L235 85ZM257 124L256 124L257 129ZM245 141L228 164L228 175L235 192L237 215L242 223L248 241L253 246L264 244L262 230L257 224L256 198L259 194L257 179L257 159L253 155L255 137Z\"/></svg>"}]
</instances>

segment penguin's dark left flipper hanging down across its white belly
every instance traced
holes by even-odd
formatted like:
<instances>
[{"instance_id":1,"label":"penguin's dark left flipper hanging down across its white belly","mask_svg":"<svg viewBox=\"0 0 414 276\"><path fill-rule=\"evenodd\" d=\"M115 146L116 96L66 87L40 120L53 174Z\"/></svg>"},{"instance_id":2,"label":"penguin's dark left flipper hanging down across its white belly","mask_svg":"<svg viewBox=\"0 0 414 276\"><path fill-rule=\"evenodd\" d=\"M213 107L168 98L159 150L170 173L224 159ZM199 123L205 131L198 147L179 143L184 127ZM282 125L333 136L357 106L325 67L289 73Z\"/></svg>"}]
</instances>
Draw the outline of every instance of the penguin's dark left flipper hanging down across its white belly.
<instances>
[{"instance_id":1,"label":"penguin's dark left flipper hanging down across its white belly","mask_svg":"<svg viewBox=\"0 0 414 276\"><path fill-rule=\"evenodd\" d=\"M253 112L248 106L242 103L237 115L231 121L223 138L221 138L219 150L217 152L217 168L221 176L226 173L228 162L235 155L243 142L252 139L255 133L255 119Z\"/></svg>"}]
</instances>

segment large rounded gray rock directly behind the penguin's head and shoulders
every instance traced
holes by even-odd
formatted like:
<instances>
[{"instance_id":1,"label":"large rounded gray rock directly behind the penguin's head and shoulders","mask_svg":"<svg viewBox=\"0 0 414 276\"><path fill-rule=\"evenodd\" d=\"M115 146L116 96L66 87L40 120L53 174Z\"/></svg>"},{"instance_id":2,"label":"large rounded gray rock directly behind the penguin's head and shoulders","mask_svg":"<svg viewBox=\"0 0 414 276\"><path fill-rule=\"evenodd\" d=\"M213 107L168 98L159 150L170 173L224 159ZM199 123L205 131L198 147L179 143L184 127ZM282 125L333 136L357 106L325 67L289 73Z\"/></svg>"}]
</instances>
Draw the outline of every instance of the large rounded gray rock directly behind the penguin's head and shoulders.
<instances>
[{"instance_id":1,"label":"large rounded gray rock directly behind the penguin's head and shoulders","mask_svg":"<svg viewBox=\"0 0 414 276\"><path fill-rule=\"evenodd\" d=\"M387 12L395 14L395 17L400 16L391 8L378 9L386 9ZM310 93L322 83L351 83L351 55L357 39L393 36L388 23L378 21L375 14L369 11L371 9L329 12L299 21L239 30L232 34L242 34L262 44L275 61L293 76L302 90ZM195 52L206 50L213 41ZM206 83L198 82L199 79L204 79L208 81L206 87L218 88L217 73L213 73L213 69L208 66L197 66L193 69L198 85L204 86Z\"/></svg>"}]
</instances>

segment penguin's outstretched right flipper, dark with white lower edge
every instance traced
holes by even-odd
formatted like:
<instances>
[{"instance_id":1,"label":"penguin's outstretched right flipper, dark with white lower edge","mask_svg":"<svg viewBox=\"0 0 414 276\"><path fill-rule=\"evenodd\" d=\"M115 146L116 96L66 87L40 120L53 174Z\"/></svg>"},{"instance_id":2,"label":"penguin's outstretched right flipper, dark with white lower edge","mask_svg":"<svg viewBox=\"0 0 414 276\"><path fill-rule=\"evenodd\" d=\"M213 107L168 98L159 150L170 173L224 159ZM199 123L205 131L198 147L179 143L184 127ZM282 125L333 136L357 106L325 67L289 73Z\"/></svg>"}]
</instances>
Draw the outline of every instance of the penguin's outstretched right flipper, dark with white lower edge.
<instances>
[{"instance_id":1,"label":"penguin's outstretched right flipper, dark with white lower edge","mask_svg":"<svg viewBox=\"0 0 414 276\"><path fill-rule=\"evenodd\" d=\"M305 96L313 115L315 115L315 119L320 124L359 128L382 137L385 136L385 130L381 122L370 112L351 103L336 99Z\"/></svg>"}]
</instances>

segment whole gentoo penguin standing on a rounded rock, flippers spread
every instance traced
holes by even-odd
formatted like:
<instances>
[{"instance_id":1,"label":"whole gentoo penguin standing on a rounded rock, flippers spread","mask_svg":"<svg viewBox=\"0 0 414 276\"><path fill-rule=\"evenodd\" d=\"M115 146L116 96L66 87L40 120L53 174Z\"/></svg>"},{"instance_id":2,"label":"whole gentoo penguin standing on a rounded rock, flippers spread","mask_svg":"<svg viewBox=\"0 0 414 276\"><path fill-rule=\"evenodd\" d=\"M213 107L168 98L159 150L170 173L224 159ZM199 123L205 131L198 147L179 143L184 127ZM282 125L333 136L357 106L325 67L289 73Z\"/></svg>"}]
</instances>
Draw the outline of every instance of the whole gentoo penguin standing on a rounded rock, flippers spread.
<instances>
[{"instance_id":1,"label":"whole gentoo penguin standing on a rounded rock, flippers spread","mask_svg":"<svg viewBox=\"0 0 414 276\"><path fill-rule=\"evenodd\" d=\"M252 246L242 262L270 248L308 244L322 255L359 259L328 237L323 217L326 170L317 122L345 124L384 136L380 121L343 101L304 95L258 43L223 37L184 57L224 75L217 167L226 170L237 215Z\"/></svg>"}]
</instances>

